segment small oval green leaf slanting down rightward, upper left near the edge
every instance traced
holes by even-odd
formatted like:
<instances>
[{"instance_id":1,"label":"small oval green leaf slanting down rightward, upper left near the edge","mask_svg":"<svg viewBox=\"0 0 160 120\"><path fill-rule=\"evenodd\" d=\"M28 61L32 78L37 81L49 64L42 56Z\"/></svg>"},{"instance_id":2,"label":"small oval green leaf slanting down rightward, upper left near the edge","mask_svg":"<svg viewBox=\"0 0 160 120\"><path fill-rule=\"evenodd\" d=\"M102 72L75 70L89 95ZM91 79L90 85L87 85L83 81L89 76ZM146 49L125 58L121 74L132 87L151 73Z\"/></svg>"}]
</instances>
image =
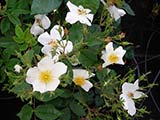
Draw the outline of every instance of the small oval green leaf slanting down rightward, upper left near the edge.
<instances>
[{"instance_id":1,"label":"small oval green leaf slanting down rightward, upper left near the edge","mask_svg":"<svg viewBox=\"0 0 160 120\"><path fill-rule=\"evenodd\" d=\"M14 24L14 25L20 25L21 24L21 21L20 19L18 18L18 16L14 15L14 14L10 14L8 13L8 18L9 20Z\"/></svg>"}]
</instances>

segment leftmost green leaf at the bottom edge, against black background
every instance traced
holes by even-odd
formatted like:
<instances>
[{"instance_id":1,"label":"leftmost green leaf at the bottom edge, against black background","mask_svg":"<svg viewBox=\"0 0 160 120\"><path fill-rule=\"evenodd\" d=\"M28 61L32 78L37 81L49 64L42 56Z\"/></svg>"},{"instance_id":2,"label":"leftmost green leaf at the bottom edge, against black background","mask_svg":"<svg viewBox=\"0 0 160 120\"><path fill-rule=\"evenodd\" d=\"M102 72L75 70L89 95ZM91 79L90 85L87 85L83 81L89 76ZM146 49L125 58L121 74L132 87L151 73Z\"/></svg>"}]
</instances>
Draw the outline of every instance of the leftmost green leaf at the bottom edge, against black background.
<instances>
[{"instance_id":1,"label":"leftmost green leaf at the bottom edge, against black background","mask_svg":"<svg viewBox=\"0 0 160 120\"><path fill-rule=\"evenodd\" d=\"M31 120L32 113L32 107L29 105L24 105L17 116L20 118L20 120Z\"/></svg>"}]
</instances>

